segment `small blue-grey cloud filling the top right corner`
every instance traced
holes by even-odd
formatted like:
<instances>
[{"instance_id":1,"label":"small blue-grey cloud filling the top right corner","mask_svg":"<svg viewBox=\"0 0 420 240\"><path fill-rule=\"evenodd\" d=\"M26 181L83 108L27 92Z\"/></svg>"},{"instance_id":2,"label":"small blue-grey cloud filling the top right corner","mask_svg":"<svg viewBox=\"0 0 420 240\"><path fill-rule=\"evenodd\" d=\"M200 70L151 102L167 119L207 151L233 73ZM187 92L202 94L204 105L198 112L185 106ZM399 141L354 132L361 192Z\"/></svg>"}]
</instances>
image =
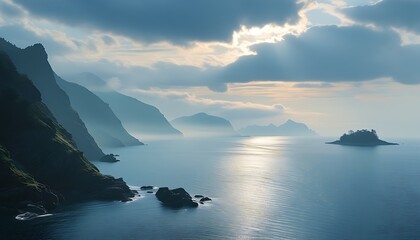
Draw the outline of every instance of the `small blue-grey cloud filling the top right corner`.
<instances>
[{"instance_id":1,"label":"small blue-grey cloud filling the top right corner","mask_svg":"<svg viewBox=\"0 0 420 240\"><path fill-rule=\"evenodd\" d=\"M374 5L353 7L344 10L356 21L380 27L402 28L420 33L420 1L383 0Z\"/></svg>"}]
</instances>

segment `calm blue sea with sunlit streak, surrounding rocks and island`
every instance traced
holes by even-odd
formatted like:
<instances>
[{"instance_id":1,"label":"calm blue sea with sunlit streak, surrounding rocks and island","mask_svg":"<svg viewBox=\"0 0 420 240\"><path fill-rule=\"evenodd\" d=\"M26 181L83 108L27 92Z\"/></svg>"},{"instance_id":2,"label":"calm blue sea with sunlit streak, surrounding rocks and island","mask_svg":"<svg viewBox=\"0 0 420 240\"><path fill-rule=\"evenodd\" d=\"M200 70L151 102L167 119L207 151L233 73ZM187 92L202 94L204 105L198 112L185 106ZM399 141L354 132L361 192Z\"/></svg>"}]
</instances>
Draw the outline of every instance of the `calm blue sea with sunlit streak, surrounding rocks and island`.
<instances>
[{"instance_id":1,"label":"calm blue sea with sunlit streak, surrounding rocks and island","mask_svg":"<svg viewBox=\"0 0 420 240\"><path fill-rule=\"evenodd\" d=\"M168 209L141 192L133 202L65 206L2 223L1 231L6 239L420 239L420 141L325 141L186 139L107 149L121 162L98 163L103 173L213 201Z\"/></svg>"}]
</instances>

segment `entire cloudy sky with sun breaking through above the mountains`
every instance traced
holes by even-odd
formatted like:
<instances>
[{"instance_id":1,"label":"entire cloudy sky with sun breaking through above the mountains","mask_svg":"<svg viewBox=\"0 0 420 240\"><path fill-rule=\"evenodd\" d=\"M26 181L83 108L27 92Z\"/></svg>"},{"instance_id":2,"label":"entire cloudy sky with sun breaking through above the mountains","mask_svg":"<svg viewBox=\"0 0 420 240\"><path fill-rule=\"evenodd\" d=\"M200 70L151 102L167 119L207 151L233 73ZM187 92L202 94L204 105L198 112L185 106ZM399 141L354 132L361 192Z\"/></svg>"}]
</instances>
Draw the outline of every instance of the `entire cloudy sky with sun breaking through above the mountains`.
<instances>
[{"instance_id":1,"label":"entire cloudy sky with sun breaking through above the mountains","mask_svg":"<svg viewBox=\"0 0 420 240\"><path fill-rule=\"evenodd\" d=\"M420 137L418 0L0 0L0 37L42 43L172 120L304 122Z\"/></svg>"}]
</instances>

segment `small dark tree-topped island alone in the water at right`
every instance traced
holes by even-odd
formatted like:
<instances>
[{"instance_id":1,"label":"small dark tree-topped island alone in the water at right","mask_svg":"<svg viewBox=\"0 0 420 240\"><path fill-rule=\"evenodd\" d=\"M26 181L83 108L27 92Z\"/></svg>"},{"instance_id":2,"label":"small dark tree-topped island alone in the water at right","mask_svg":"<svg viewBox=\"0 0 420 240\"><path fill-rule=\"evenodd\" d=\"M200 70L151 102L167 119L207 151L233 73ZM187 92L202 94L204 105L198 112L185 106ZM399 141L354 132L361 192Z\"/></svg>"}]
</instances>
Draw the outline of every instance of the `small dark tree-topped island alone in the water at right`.
<instances>
[{"instance_id":1,"label":"small dark tree-topped island alone in the water at right","mask_svg":"<svg viewBox=\"0 0 420 240\"><path fill-rule=\"evenodd\" d=\"M327 144L339 144L348 146L379 146L379 145L398 145L398 143L390 143L379 139L375 130L350 130L348 133L343 134L340 140L334 142L327 142Z\"/></svg>"}]
</instances>

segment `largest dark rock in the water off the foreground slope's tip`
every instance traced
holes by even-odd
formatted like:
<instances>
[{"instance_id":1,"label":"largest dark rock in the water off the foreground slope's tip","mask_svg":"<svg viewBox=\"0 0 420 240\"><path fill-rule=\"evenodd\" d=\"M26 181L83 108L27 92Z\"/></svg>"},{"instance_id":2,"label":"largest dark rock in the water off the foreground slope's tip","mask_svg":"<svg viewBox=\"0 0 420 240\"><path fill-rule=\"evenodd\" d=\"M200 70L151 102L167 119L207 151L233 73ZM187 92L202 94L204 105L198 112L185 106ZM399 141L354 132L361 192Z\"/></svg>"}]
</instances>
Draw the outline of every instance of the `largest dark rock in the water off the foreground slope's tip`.
<instances>
[{"instance_id":1,"label":"largest dark rock in the water off the foreground slope's tip","mask_svg":"<svg viewBox=\"0 0 420 240\"><path fill-rule=\"evenodd\" d=\"M198 207L198 203L194 202L191 195L183 188L170 190L167 187L162 187L155 195L159 201L169 207Z\"/></svg>"}]
</instances>

